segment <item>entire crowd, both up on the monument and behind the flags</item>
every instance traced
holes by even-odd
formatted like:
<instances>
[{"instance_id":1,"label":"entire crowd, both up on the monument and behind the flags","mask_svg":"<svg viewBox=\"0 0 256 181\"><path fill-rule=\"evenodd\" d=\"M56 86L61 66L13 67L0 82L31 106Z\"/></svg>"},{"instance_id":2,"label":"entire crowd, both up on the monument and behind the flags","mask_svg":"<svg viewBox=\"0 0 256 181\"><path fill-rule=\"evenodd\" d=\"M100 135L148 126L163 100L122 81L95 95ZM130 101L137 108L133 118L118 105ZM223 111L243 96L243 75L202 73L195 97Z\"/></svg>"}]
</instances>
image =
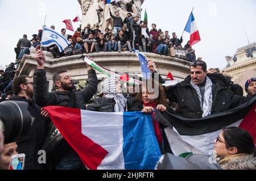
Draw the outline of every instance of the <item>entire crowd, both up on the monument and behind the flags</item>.
<instances>
[{"instance_id":1,"label":"entire crowd, both up on the monument and behind the flags","mask_svg":"<svg viewBox=\"0 0 256 181\"><path fill-rule=\"evenodd\" d=\"M51 45L44 50L51 52L55 58L71 56L74 53L126 50L132 52L133 48L142 52L170 56L169 49L182 47L182 36L179 39L175 32L172 35L169 31L162 32L161 29L156 28L156 24L152 24L149 30L138 15L132 17L129 12L122 20L117 11L114 15L110 12L110 16L113 18L113 30L106 28L102 32L100 26L93 28L87 24L83 29L77 28L73 35L66 35L66 30L63 28L61 35L68 39L69 47L63 52L59 51L57 45ZM51 28L55 30L55 26ZM43 30L39 30L38 34L32 35L31 40L27 39L27 35L23 35L15 48L16 64L19 64L24 54L30 54L31 47L35 48L38 66L34 71L33 79L28 75L15 77L17 71L14 63L11 63L5 71L0 70L1 101L27 102L28 111L35 118L26 138L3 146L0 142L0 169L8 169L11 156L18 153L26 155L24 167L26 170L86 169L76 151L60 133L55 133L56 128L49 118L49 113L43 110L46 106L63 106L97 112L152 113L158 110L172 112L187 119L200 119L231 110L256 95L256 78L246 81L247 96L243 96L241 86L233 85L228 77L217 73L216 69L207 70L207 64L201 58L196 60L195 50L192 49L189 41L184 45L184 49L187 60L191 61L191 75L174 87L163 86L164 80L155 70L154 62L148 60L151 78L144 80L138 89L121 82L119 77L112 76L101 83L101 94L98 94L99 82L96 71L87 65L84 68L88 70L87 86L78 90L68 71L60 70L52 77L56 89L49 92L46 69L44 69L46 57L40 48L42 33ZM156 120L152 121L161 153L172 153L162 125ZM2 128L0 128L0 136L1 130ZM212 149L216 151L217 161L222 169L256 169L253 137L241 128L224 128L212 143ZM39 150L46 151L46 164L38 162Z\"/></svg>"}]
</instances>

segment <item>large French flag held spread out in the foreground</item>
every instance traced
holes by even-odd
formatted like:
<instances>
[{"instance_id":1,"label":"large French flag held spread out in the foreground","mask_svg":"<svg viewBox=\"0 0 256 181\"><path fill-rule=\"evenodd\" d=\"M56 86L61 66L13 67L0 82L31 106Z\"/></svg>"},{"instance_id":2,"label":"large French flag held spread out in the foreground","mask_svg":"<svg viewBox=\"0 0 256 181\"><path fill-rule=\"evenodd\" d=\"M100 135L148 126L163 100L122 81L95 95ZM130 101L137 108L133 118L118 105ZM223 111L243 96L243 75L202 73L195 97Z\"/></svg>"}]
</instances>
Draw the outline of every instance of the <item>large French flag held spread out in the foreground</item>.
<instances>
[{"instance_id":1,"label":"large French flag held spread out in the foreground","mask_svg":"<svg viewBox=\"0 0 256 181\"><path fill-rule=\"evenodd\" d=\"M161 156L152 116L45 107L90 170L153 170Z\"/></svg>"}]
</instances>

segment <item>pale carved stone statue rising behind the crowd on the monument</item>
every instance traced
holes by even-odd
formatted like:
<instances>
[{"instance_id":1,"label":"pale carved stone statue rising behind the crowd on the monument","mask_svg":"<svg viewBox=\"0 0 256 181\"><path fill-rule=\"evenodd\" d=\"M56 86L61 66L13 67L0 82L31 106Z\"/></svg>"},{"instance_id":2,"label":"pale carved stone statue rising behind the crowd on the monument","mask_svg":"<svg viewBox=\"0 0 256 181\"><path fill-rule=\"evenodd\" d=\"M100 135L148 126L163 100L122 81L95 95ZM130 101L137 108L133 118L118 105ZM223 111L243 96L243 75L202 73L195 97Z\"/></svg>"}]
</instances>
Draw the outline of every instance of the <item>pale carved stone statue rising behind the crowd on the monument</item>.
<instances>
[{"instance_id":1,"label":"pale carved stone statue rising behind the crowd on the monument","mask_svg":"<svg viewBox=\"0 0 256 181\"><path fill-rule=\"evenodd\" d=\"M113 6L113 3L106 4L102 0L77 0L82 10L82 29L89 23L92 27L100 25L101 31L104 32L105 28L113 30L113 19L110 17L110 11L115 14L119 11L121 18L124 20L127 16L126 4L131 0L119 1L119 6ZM134 0L131 7L133 16L141 16L142 4L144 0Z\"/></svg>"}]
</instances>

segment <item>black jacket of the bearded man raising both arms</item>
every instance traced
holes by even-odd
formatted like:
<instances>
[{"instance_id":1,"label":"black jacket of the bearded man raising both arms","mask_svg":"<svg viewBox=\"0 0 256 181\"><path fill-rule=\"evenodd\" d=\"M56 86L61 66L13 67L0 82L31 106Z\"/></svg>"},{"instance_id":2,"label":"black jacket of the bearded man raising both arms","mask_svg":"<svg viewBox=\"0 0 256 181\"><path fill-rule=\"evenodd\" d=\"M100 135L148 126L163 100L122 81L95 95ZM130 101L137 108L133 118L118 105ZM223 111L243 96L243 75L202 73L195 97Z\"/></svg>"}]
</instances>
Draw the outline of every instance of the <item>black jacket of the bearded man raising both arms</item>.
<instances>
[{"instance_id":1,"label":"black jacket of the bearded man raising both arms","mask_svg":"<svg viewBox=\"0 0 256 181\"><path fill-rule=\"evenodd\" d=\"M88 102L97 91L98 79L95 70L88 71L89 84L82 91L73 92L75 96L75 106L73 108L85 109ZM34 98L41 106L67 106L70 92L48 92L46 84L46 70L36 69L34 79Z\"/></svg>"}]
</instances>

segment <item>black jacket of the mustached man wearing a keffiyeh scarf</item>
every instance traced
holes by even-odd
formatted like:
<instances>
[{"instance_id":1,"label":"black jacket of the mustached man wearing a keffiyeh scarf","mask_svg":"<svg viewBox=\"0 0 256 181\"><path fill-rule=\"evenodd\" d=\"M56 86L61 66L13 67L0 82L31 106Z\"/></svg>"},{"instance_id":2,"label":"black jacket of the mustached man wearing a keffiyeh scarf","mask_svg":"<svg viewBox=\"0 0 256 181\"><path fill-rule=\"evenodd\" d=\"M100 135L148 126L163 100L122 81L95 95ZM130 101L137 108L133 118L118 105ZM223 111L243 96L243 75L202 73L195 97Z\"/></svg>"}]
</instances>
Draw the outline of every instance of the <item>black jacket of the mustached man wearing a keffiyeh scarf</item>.
<instances>
[{"instance_id":1,"label":"black jacket of the mustached man wearing a keffiyeh scarf","mask_svg":"<svg viewBox=\"0 0 256 181\"><path fill-rule=\"evenodd\" d=\"M250 100L243 96L234 95L234 92L220 79L207 75L212 83L213 104L211 114L223 112L240 106ZM203 113L197 92L191 86L191 77L188 76L183 82L168 90L167 96L171 102L179 104L180 115L186 118L201 118Z\"/></svg>"}]
</instances>

